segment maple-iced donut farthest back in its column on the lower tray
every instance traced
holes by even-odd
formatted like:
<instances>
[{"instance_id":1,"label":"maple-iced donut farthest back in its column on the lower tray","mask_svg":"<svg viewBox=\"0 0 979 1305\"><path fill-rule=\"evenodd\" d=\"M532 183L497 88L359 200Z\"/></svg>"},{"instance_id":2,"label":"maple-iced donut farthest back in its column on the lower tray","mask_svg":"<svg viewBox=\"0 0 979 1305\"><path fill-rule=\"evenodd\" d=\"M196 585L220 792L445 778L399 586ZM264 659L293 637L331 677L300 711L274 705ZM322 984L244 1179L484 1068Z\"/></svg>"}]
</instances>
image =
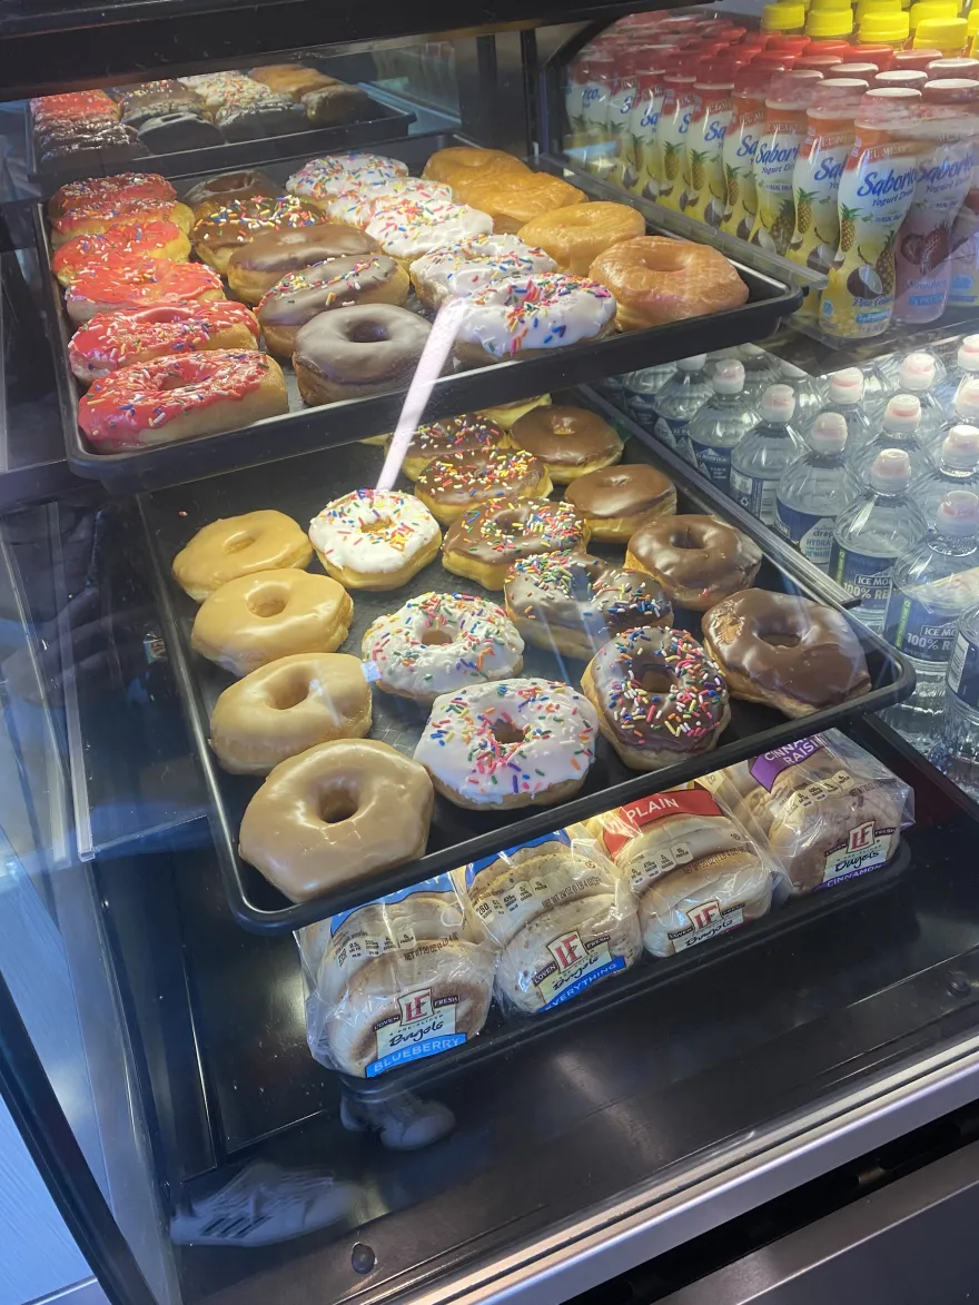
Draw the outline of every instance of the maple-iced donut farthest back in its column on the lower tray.
<instances>
[{"instance_id":1,"label":"maple-iced donut farthest back in its column on the lower tray","mask_svg":"<svg viewBox=\"0 0 979 1305\"><path fill-rule=\"evenodd\" d=\"M313 547L300 526L266 508L211 521L174 559L174 579L194 603L215 589L260 570L295 566L305 570Z\"/></svg>"}]
</instances>

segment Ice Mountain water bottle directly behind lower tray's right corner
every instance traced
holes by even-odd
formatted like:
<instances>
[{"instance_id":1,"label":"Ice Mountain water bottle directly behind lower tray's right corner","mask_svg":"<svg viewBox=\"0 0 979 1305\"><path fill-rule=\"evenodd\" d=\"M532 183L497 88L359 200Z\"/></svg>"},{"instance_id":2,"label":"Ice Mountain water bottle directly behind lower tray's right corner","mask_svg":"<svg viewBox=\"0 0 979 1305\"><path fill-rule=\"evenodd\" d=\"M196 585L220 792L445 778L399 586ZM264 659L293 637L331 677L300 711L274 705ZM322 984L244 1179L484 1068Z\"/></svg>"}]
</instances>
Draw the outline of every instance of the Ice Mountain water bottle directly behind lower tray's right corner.
<instances>
[{"instance_id":1,"label":"Ice Mountain water bottle directly behind lower tray's right corner","mask_svg":"<svg viewBox=\"0 0 979 1305\"><path fill-rule=\"evenodd\" d=\"M903 449L882 449L869 466L868 487L837 517L829 573L860 599L858 616L884 629L890 573L898 557L919 544L928 526L911 499L911 459Z\"/></svg>"}]
</instances>

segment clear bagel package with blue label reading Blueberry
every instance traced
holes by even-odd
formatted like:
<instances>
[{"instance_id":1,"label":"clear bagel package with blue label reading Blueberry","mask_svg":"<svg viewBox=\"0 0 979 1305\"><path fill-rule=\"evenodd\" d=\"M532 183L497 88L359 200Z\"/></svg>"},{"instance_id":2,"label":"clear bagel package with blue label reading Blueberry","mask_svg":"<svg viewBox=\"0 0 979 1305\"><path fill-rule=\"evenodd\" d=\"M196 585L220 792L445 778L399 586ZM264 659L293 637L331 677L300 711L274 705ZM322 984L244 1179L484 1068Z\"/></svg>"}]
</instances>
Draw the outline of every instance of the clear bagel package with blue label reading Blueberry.
<instances>
[{"instance_id":1,"label":"clear bagel package with blue label reading Blueberry","mask_svg":"<svg viewBox=\"0 0 979 1305\"><path fill-rule=\"evenodd\" d=\"M300 929L298 941L307 1041L321 1065L376 1078L486 1023L493 947L448 874Z\"/></svg>"}]
</instances>

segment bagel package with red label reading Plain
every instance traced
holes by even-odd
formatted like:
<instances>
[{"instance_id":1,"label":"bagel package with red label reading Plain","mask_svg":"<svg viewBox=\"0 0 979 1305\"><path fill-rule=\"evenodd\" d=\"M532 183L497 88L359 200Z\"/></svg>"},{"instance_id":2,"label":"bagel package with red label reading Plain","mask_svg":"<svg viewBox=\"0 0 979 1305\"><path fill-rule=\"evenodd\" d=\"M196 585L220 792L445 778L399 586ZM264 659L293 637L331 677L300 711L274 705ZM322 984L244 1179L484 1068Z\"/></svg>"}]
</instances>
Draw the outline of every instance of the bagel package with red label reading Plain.
<instances>
[{"instance_id":1,"label":"bagel package with red label reading Plain","mask_svg":"<svg viewBox=\"0 0 979 1305\"><path fill-rule=\"evenodd\" d=\"M636 899L654 957L707 942L771 906L771 863L697 784L617 806L590 823Z\"/></svg>"}]
</instances>

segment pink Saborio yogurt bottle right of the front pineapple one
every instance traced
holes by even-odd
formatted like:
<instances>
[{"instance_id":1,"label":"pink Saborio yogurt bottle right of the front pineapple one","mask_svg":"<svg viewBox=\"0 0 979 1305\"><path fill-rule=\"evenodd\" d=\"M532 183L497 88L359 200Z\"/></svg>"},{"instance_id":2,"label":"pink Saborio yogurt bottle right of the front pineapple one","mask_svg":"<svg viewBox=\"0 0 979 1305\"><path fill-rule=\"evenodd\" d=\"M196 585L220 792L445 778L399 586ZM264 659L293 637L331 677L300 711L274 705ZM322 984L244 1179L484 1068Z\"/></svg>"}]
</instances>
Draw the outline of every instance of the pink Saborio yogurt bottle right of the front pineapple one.
<instances>
[{"instance_id":1,"label":"pink Saborio yogurt bottle right of the front pineapple one","mask_svg":"<svg viewBox=\"0 0 979 1305\"><path fill-rule=\"evenodd\" d=\"M941 141L919 159L911 207L894 247L894 320L941 317L952 290L952 227L972 184L974 142Z\"/></svg>"}]
</instances>

